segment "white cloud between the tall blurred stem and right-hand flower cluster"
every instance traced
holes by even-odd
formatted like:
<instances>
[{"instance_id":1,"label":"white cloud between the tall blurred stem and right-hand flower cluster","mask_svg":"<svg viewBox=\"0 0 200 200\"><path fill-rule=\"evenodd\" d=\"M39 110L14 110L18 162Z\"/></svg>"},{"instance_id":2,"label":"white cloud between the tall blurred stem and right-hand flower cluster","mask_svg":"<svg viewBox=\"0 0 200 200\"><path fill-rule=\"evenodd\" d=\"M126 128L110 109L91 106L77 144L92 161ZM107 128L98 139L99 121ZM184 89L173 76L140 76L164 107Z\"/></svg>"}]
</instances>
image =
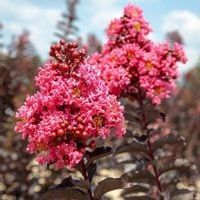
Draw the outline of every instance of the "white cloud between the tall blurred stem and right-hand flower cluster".
<instances>
[{"instance_id":1,"label":"white cloud between the tall blurred stem and right-hand flower cluster","mask_svg":"<svg viewBox=\"0 0 200 200\"><path fill-rule=\"evenodd\" d=\"M80 1L80 7L87 16L82 16L78 22L81 37L86 40L88 33L95 33L102 42L106 41L105 29L112 19L122 13L119 0L84 0Z\"/></svg>"}]
</instances>

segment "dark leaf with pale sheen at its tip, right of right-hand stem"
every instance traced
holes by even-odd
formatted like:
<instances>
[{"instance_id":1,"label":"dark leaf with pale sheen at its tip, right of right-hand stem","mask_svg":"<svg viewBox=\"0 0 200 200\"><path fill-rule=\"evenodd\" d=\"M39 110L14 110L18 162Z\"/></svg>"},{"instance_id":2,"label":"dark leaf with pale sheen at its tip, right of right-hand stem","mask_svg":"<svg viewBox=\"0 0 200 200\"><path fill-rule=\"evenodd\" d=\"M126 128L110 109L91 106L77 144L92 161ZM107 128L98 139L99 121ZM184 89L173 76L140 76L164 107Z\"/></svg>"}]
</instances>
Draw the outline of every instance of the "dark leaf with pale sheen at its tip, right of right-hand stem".
<instances>
[{"instance_id":1,"label":"dark leaf with pale sheen at its tip, right of right-hand stem","mask_svg":"<svg viewBox=\"0 0 200 200\"><path fill-rule=\"evenodd\" d=\"M169 171L172 171L172 170L177 170L177 171L181 171L181 172L184 172L184 171L188 172L188 170L190 170L190 167L191 167L191 163L188 160L186 160L186 159L176 159L175 161L170 162L170 163L165 164L164 166L160 167L158 169L158 171L159 171L159 175L166 173L166 172L169 172Z\"/></svg>"}]
</instances>

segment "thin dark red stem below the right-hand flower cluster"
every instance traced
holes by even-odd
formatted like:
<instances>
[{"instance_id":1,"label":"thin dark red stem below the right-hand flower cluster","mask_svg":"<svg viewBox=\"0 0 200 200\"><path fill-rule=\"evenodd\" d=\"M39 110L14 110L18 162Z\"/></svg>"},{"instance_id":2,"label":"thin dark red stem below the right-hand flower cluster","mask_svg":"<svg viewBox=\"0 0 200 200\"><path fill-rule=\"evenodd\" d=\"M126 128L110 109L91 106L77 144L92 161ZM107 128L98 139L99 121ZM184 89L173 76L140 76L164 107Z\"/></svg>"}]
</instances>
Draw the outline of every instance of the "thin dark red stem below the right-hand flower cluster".
<instances>
[{"instance_id":1,"label":"thin dark red stem below the right-hand flower cluster","mask_svg":"<svg viewBox=\"0 0 200 200\"><path fill-rule=\"evenodd\" d=\"M162 195L163 189L162 189L162 185L160 183L160 179L159 179L159 173L157 170L157 167L155 165L155 158L154 158L154 154L153 154L153 150L152 150L152 146L151 146L151 142L150 142L150 132L147 130L147 126L148 126L148 122L146 119L146 114L144 111L144 104L143 104L143 98L141 97L139 99L139 104L140 104L140 109L142 111L142 126L143 126L143 130L147 132L147 149L148 149L148 153L149 153L149 157L151 159L151 165L153 167L153 172L155 175L155 179L156 179L156 183L157 183L157 187L160 193L160 197L161 200L164 200L164 197Z\"/></svg>"}]
</instances>

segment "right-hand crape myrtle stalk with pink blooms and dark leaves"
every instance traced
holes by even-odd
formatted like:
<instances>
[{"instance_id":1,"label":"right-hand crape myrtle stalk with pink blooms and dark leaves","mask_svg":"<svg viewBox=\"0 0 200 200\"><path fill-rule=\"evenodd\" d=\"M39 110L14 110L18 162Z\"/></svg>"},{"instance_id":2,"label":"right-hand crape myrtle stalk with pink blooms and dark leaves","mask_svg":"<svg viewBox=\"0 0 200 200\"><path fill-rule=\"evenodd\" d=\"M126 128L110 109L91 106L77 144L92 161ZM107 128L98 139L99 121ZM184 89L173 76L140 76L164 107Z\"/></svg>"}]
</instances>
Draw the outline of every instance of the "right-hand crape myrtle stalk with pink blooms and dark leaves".
<instances>
[{"instance_id":1,"label":"right-hand crape myrtle stalk with pink blooms and dark leaves","mask_svg":"<svg viewBox=\"0 0 200 200\"><path fill-rule=\"evenodd\" d=\"M102 52L94 54L90 62L97 64L110 93L125 98L128 134L115 154L131 152L134 154L132 162L137 162L134 163L134 170L123 178L136 183L148 181L151 185L140 190L138 186L141 183L136 184L136 189L128 189L123 196L149 191L152 197L164 199L183 192L176 190L175 186L168 192L168 185L175 179L180 181L180 171L188 174L191 164L174 158L172 147L165 149L165 144L184 144L184 141L177 134L168 133L158 123L155 124L159 118L165 120L165 114L159 112L156 106L168 98L175 87L177 62L185 63L187 59L178 43L155 44L150 41L147 38L150 31L141 9L131 5L125 7L124 15L108 27L108 41ZM142 152L145 160L138 156L138 151ZM123 164L130 162L123 161ZM157 189L154 190L152 184Z\"/></svg>"}]
</instances>

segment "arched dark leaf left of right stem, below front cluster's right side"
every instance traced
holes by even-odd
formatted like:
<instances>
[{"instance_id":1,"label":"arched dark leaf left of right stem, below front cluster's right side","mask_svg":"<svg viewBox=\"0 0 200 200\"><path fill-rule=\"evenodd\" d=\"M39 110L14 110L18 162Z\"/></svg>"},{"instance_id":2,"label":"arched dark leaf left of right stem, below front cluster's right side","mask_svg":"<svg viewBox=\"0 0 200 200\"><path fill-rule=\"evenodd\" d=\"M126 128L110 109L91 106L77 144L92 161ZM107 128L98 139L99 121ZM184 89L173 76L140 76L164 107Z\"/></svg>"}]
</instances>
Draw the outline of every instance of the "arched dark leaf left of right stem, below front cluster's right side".
<instances>
[{"instance_id":1,"label":"arched dark leaf left of right stem, below front cluster's right side","mask_svg":"<svg viewBox=\"0 0 200 200\"><path fill-rule=\"evenodd\" d=\"M114 154L117 155L117 154L121 154L121 153L137 153L137 152L141 152L141 153L145 154L146 157L149 157L146 146L144 144L141 144L136 141L133 141L129 144L123 144L123 145L119 146L115 150Z\"/></svg>"}]
</instances>

